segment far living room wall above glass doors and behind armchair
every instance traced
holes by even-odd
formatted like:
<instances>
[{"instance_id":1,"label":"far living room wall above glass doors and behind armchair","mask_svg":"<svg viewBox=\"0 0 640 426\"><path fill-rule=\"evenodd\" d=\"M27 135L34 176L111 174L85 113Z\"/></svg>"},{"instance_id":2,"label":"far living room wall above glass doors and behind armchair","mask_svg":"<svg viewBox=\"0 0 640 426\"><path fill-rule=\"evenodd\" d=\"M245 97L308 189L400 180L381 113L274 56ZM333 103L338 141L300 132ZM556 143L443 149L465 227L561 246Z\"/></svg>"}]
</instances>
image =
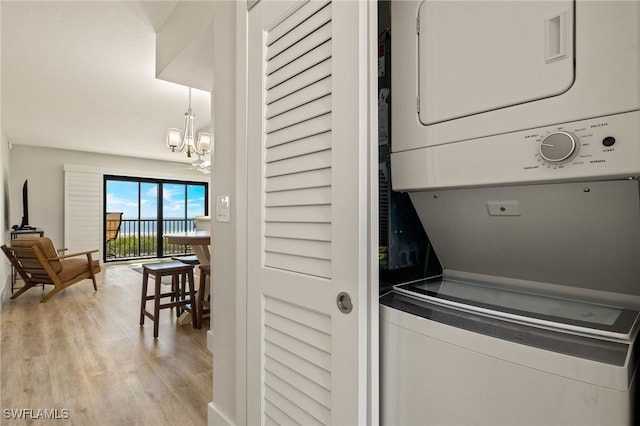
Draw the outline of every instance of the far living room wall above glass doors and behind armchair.
<instances>
[{"instance_id":1,"label":"far living room wall above glass doors and behind armchair","mask_svg":"<svg viewBox=\"0 0 640 426\"><path fill-rule=\"evenodd\" d=\"M186 155L186 154L176 154ZM10 224L22 220L22 184L29 180L29 225L42 228L56 247L64 244L64 165L104 173L208 182L205 175L165 161L63 149L13 145L9 151Z\"/></svg>"}]
</instances>

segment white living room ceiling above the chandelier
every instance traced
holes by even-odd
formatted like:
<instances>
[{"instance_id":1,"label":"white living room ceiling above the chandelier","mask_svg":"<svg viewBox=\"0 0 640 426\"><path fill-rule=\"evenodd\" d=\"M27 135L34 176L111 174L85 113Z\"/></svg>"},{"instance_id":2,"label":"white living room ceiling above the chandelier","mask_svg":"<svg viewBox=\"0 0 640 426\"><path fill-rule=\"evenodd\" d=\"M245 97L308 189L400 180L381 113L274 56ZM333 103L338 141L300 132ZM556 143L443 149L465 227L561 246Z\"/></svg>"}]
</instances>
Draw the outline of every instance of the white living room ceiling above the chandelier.
<instances>
[{"instance_id":1,"label":"white living room ceiling above the chandelier","mask_svg":"<svg viewBox=\"0 0 640 426\"><path fill-rule=\"evenodd\" d=\"M188 88L155 78L156 31L177 2L2 1L2 129L12 144L186 161L164 146ZM210 94L193 90L196 127Z\"/></svg>"}]
</instances>

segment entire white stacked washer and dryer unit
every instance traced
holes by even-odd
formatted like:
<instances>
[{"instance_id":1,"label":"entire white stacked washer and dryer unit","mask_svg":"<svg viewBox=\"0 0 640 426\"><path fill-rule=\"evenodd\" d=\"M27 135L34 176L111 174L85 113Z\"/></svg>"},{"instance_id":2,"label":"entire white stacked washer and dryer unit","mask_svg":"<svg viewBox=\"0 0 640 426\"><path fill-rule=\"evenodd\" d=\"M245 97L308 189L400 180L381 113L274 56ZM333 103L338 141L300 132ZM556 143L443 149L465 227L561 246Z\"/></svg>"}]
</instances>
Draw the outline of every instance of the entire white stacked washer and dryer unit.
<instances>
[{"instance_id":1,"label":"entire white stacked washer and dryer unit","mask_svg":"<svg viewBox=\"0 0 640 426\"><path fill-rule=\"evenodd\" d=\"M385 424L639 423L640 2L392 2Z\"/></svg>"}]
</instances>

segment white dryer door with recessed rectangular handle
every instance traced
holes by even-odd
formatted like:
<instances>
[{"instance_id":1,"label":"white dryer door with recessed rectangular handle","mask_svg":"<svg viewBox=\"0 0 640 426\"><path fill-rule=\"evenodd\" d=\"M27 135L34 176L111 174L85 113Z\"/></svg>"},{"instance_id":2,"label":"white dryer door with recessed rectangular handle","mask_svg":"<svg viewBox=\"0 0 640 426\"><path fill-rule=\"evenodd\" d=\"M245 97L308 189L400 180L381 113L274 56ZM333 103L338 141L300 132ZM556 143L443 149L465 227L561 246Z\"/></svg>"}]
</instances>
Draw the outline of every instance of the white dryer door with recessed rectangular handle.
<instances>
[{"instance_id":1,"label":"white dryer door with recessed rectangular handle","mask_svg":"<svg viewBox=\"0 0 640 426\"><path fill-rule=\"evenodd\" d=\"M559 95L574 81L572 1L423 1L424 125Z\"/></svg>"}]
</instances>

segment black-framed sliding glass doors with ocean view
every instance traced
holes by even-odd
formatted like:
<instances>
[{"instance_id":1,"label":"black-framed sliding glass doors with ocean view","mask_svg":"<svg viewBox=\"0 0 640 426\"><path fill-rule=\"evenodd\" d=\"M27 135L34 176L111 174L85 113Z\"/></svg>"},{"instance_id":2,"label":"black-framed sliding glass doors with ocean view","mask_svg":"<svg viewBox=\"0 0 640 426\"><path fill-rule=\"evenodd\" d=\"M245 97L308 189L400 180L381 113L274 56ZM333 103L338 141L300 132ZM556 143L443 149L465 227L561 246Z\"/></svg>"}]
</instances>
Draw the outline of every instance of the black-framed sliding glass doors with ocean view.
<instances>
[{"instance_id":1,"label":"black-framed sliding glass doors with ocean view","mask_svg":"<svg viewBox=\"0 0 640 426\"><path fill-rule=\"evenodd\" d=\"M204 182L105 176L103 260L192 253L190 246L167 244L162 235L193 230L195 217L208 215L208 194Z\"/></svg>"}]
</instances>

